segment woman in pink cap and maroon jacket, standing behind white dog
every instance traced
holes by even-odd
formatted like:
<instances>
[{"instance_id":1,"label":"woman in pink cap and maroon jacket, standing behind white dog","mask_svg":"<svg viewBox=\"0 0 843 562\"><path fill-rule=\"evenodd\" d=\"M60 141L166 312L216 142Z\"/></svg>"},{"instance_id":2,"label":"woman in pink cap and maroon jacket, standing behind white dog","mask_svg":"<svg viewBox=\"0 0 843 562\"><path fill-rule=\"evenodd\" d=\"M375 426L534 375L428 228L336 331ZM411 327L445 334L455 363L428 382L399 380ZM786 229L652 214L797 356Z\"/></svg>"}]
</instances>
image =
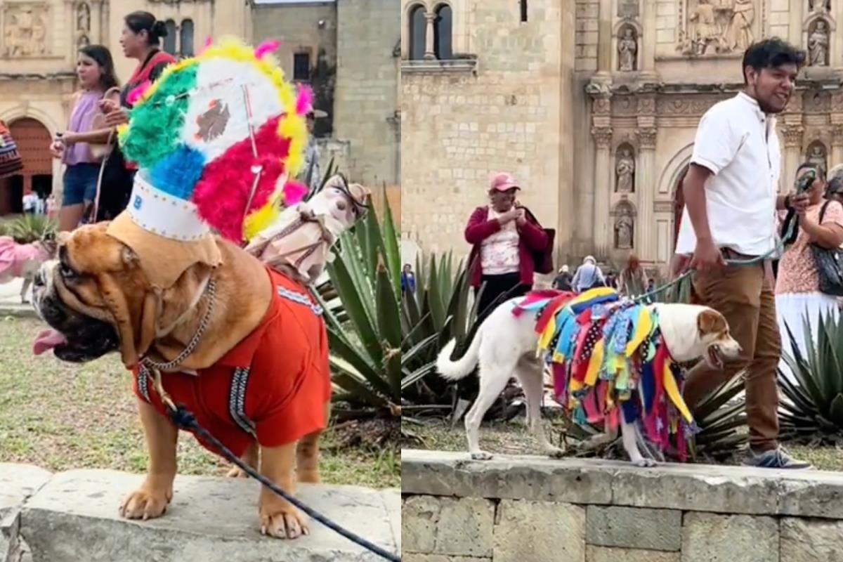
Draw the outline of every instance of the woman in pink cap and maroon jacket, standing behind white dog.
<instances>
[{"instance_id":1,"label":"woman in pink cap and maroon jacket, standing behind white dog","mask_svg":"<svg viewBox=\"0 0 843 562\"><path fill-rule=\"evenodd\" d=\"M469 263L475 297L485 286L478 318L486 318L506 298L524 295L533 287L534 254L545 251L549 243L533 214L515 201L520 189L512 175L496 174L489 185L490 204L477 207L465 227L465 240L473 246Z\"/></svg>"}]
</instances>

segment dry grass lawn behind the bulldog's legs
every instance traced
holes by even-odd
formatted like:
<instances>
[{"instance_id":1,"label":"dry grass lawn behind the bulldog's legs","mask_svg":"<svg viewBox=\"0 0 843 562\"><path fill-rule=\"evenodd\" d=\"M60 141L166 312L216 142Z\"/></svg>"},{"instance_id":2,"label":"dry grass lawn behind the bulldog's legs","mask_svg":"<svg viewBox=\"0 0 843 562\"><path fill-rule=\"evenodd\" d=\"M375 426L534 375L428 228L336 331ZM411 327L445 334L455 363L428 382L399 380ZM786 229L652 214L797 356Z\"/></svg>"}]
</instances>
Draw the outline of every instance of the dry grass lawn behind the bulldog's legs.
<instances>
[{"instance_id":1,"label":"dry grass lawn behind the bulldog's legs","mask_svg":"<svg viewBox=\"0 0 843 562\"><path fill-rule=\"evenodd\" d=\"M44 327L32 318L0 318L0 462L142 473L147 454L132 377L119 357L81 366L52 354L36 357L32 341ZM400 485L398 452L340 447L338 441L332 429L325 432L325 483ZM228 468L193 436L180 435L180 474L224 475Z\"/></svg>"}]
</instances>

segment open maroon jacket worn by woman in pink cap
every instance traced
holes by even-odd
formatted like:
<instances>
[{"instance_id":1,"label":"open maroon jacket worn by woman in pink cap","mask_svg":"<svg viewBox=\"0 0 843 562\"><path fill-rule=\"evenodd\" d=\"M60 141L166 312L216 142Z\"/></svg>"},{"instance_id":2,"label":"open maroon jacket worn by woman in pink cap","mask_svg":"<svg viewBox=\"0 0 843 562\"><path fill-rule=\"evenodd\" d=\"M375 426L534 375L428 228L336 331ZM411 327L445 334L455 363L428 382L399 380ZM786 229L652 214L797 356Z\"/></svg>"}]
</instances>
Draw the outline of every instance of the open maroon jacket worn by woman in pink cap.
<instances>
[{"instance_id":1,"label":"open maroon jacket worn by woman in pink cap","mask_svg":"<svg viewBox=\"0 0 843 562\"><path fill-rule=\"evenodd\" d=\"M518 227L518 270L523 285L533 284L533 252L540 252L547 246L548 238L538 223L533 222L527 213L527 222ZM480 245L483 240L501 229L500 222L489 220L489 207L479 206L471 213L469 223L465 227L465 241L472 245L469 255L471 286L480 286L483 275L480 260Z\"/></svg>"}]
</instances>

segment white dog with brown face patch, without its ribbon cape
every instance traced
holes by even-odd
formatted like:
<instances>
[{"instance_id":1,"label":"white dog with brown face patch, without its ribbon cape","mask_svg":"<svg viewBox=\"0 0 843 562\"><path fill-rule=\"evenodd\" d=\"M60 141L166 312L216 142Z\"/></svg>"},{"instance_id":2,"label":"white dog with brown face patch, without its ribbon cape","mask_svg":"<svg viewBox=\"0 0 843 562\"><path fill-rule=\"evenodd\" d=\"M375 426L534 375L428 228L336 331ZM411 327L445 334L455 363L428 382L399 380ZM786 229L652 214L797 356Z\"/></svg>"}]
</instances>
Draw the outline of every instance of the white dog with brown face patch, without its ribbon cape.
<instances>
[{"instance_id":1,"label":"white dog with brown face patch, without its ribbon cape","mask_svg":"<svg viewBox=\"0 0 843 562\"><path fill-rule=\"evenodd\" d=\"M448 380L466 377L480 364L480 393L465 415L471 458L486 460L491 454L482 451L478 440L486 410L494 403L513 374L524 388L527 399L527 421L530 430L550 456L559 456L561 449L548 441L541 426L540 404L543 389L543 361L536 356L539 336L535 332L534 313L513 314L513 308L523 302L516 297L503 302L477 330L464 356L452 361L455 340L439 352L437 370ZM674 361L692 361L705 357L712 365L722 367L723 358L738 356L740 345L729 335L728 324L717 311L691 304L654 304L664 344ZM636 442L634 420L621 420L623 446L632 463L652 466L654 461L642 457ZM607 436L597 436L598 441ZM613 438L613 437L611 437Z\"/></svg>"}]
</instances>

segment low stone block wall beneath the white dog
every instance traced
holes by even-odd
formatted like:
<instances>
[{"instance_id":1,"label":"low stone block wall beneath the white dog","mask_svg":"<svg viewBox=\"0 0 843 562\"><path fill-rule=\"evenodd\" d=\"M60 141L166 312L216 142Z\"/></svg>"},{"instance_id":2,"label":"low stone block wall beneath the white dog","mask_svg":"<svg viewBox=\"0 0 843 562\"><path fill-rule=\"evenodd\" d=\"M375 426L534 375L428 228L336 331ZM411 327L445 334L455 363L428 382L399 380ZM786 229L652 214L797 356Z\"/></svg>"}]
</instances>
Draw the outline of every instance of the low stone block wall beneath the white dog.
<instances>
[{"instance_id":1,"label":"low stone block wall beneath the white dog","mask_svg":"<svg viewBox=\"0 0 843 562\"><path fill-rule=\"evenodd\" d=\"M843 475L405 450L405 562L841 560Z\"/></svg>"}]
</instances>

